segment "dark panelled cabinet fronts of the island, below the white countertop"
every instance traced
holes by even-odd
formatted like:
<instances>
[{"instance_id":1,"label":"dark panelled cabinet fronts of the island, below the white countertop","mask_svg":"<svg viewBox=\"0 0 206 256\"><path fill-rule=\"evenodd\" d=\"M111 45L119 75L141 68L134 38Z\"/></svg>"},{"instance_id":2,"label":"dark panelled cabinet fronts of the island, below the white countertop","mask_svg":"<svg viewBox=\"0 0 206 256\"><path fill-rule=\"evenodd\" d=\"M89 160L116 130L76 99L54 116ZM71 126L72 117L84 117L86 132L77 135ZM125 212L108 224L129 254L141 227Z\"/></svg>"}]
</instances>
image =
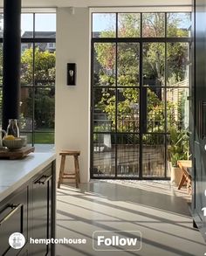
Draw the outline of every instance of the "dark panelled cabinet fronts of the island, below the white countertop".
<instances>
[{"instance_id":1,"label":"dark panelled cabinet fronts of the island, below the white countertop","mask_svg":"<svg viewBox=\"0 0 206 256\"><path fill-rule=\"evenodd\" d=\"M30 243L30 239L55 238L55 174L55 160L52 159L0 201L0 255L55 255L54 245ZM21 249L9 245L10 234L14 232L24 234L25 245Z\"/></svg>"}]
</instances>

